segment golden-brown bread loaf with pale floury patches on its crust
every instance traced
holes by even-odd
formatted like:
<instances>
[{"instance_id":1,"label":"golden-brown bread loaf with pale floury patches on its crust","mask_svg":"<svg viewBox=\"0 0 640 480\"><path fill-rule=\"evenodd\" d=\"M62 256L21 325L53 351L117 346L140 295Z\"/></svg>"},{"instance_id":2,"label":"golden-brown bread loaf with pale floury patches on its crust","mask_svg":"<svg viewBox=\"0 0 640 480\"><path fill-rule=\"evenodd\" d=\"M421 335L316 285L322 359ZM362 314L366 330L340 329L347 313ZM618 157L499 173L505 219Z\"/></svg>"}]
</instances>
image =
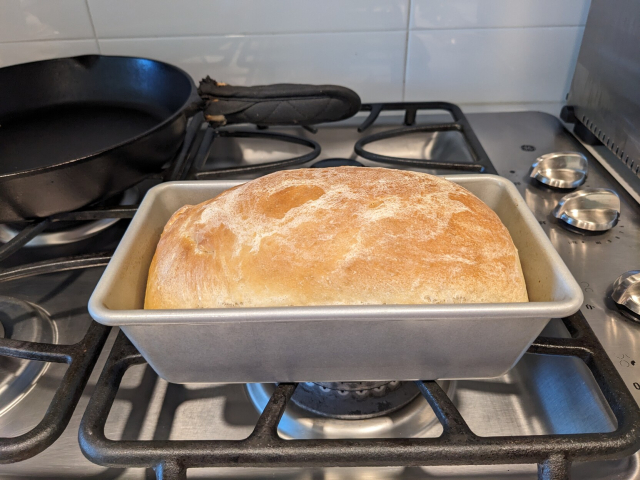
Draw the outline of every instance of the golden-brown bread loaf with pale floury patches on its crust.
<instances>
[{"instance_id":1,"label":"golden-brown bread loaf with pale floury patches on its crust","mask_svg":"<svg viewBox=\"0 0 640 480\"><path fill-rule=\"evenodd\" d=\"M469 191L339 167L273 173L175 212L145 308L527 300L509 232Z\"/></svg>"}]
</instances>

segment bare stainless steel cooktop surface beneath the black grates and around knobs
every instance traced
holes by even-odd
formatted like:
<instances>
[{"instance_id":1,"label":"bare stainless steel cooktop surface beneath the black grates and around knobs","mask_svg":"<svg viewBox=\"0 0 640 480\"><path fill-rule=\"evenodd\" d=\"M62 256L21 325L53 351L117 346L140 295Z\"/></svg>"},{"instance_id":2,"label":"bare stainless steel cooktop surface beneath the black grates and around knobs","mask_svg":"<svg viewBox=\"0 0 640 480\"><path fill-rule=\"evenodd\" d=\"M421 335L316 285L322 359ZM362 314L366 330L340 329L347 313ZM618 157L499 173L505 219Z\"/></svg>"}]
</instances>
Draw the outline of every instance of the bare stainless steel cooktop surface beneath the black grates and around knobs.
<instances>
[{"instance_id":1,"label":"bare stainless steel cooktop surface beneath the black grates and around knobs","mask_svg":"<svg viewBox=\"0 0 640 480\"><path fill-rule=\"evenodd\" d=\"M640 324L626 320L607 300L613 281L621 273L638 268L640 264L640 208L621 188L617 188L610 175L564 130L558 119L536 112L476 114L468 118L498 172L515 182L552 243L583 286L585 304L582 311L640 402ZM357 136L352 127L321 129L313 137L323 146L323 153L317 160L355 158L353 144ZM431 143L430 148L436 147L438 145ZM531 147L535 147L535 150ZM529 170L537 156L566 150L581 151L589 158L586 186L613 188L620 195L621 220L613 230L598 236L567 232L551 216L551 210L564 193L556 193L530 182ZM367 161L362 163L372 164ZM95 240L100 241L99 237ZM32 277L2 285L0 295L13 295L38 303L55 323L59 343L71 343L82 337L90 323L85 306L100 274L101 269L93 269ZM78 446L77 432L82 412L115 333L112 332L62 437L34 458L1 465L0 478L154 478L151 472L140 469L118 470L94 465L82 456ZM556 321L552 321L545 333L558 336L567 334ZM0 416L0 435L13 436L37 423L64 369L63 365L52 364L33 390L9 412ZM614 428L611 414L603 406L593 379L584 365L572 358L525 355L503 377L457 382L454 401L471 429L479 435L602 432ZM243 385L173 385L159 379L149 367L140 366L132 368L125 376L107 422L106 433L109 438L115 439L240 439L249 435L257 417L258 412ZM438 428L423 432L424 435L438 433ZM576 465L574 477L638 480L639 460L640 455L636 454L622 461ZM192 469L189 470L189 478L524 480L537 477L535 465L513 465Z\"/></svg>"}]
</instances>

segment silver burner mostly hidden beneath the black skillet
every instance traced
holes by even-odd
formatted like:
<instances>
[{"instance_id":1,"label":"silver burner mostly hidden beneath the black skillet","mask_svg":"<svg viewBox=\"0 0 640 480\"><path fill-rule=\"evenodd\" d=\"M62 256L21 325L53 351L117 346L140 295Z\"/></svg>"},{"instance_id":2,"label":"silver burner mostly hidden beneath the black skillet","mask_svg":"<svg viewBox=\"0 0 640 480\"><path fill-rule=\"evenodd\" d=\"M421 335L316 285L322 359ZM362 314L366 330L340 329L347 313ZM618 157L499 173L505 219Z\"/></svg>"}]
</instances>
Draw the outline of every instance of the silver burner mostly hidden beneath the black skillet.
<instances>
[{"instance_id":1,"label":"silver burner mostly hidden beneath the black skillet","mask_svg":"<svg viewBox=\"0 0 640 480\"><path fill-rule=\"evenodd\" d=\"M130 188L126 190L121 197L118 205L133 205L138 201L138 191L136 188ZM55 230L46 231L37 235L27 244L25 247L44 247L49 245L64 245L73 242L79 242L86 238L97 235L98 233L106 230L110 226L118 222L118 218L105 218L102 220L95 220L89 222L57 222L59 225L55 225ZM16 230L11 225L0 224L0 242L7 243L13 237L15 237L19 230Z\"/></svg>"}]
</instances>

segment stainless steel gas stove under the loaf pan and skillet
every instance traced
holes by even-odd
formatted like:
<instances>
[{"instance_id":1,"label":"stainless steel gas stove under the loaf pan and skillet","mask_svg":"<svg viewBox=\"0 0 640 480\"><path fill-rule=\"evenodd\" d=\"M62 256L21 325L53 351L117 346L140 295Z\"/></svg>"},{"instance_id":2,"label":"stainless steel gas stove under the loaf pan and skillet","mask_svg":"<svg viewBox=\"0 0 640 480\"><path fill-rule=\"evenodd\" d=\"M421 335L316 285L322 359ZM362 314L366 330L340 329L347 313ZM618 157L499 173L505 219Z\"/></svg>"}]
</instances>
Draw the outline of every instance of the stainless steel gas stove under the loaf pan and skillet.
<instances>
[{"instance_id":1,"label":"stainless steel gas stove under the loaf pan and skillet","mask_svg":"<svg viewBox=\"0 0 640 480\"><path fill-rule=\"evenodd\" d=\"M442 111L427 111L425 106ZM623 315L611 300L614 281L640 263L637 202L618 187L597 159L555 117L538 112L465 117L442 103L406 107L366 106L359 116L322 125L317 130L230 127L214 131L194 122L182 156L162 178L150 179L137 188L143 194L166 179L250 179L280 168L341 164L407 168L434 174L498 173L517 186L583 287L585 302L581 315L578 314L580 318L564 323L552 320L543 332L547 343L534 344L531 353L525 354L509 373L495 379L440 381L439 387L434 382L309 383L298 385L295 392L293 386L286 384L170 384L155 374L122 334L96 326L86 311L88 298L109 258L107 253L100 252L115 248L126 229L126 218L135 210L127 202L121 202L108 215L123 220L113 222L94 236L75 243L25 246L0 263L3 268L0 280L5 280L0 283L0 321L5 338L60 345L80 342L80 347L69 351L42 347L39 356L30 357L50 361L57 355L58 363L0 357L3 362L0 368L5 372L0 385L3 402L0 435L30 435L28 432L37 428L47 409L64 410L64 403L70 401L74 389L67 387L66 396L60 394L60 385L69 383L70 372L92 371L90 376L86 375L88 380L84 379L87 381L84 389L82 382L76 381L75 390L82 394L59 438L35 456L0 465L0 477L184 478L180 462L169 461L171 452L167 450L178 444L162 442L245 439L256 424L266 428L268 413L278 413L274 402L283 398L291 401L284 413L279 412L282 419L277 426L278 434L294 443L297 439L354 442L373 439L370 441L374 443L395 438L435 439L445 430L464 436L468 429L483 440L527 436L532 442L542 435L566 438L573 434L614 432L620 411L629 410L624 398L611 404L610 396L603 395L598 387L602 379L595 378L583 360L553 355L552 347L554 342L560 345L564 340L571 341L573 328L580 330L580 319L584 316L613 362L613 371L617 371L631 392L635 400L633 408L640 403L640 324ZM598 233L578 232L568 229L554 216L554 209L568 191L549 188L530 178L532 164L540 156L553 152L577 152L587 159L588 176L578 190L598 188L617 193L620 211L613 228ZM103 216L107 214L96 210L89 214L68 214L62 219L97 221ZM37 234L50 225L41 223L26 227L20 235L42 239ZM38 242L35 240L32 245ZM52 263L52 259L69 255L74 255L74 259L67 264L58 262L60 268ZM25 268L26 264L30 266ZM82 266L91 268L79 268ZM68 271L59 271L61 268ZM29 272L42 274L26 276ZM8 278L11 280L6 281ZM0 345L0 353L11 353L12 348L19 347ZM113 405L109 403L111 400ZM261 417L265 408L267 412ZM63 413L58 418L66 420ZM460 425L456 428L452 419L459 418L464 419L462 425L468 429L460 429ZM91 438L100 430L101 423L106 438L114 441L109 445L113 447L113 455L101 463L155 466L155 474L144 468L103 467L85 458L78 432L81 431L85 451L95 459L104 453L95 447L99 442L92 442ZM36 443L37 438L29 441ZM136 441L155 441L154 446L166 448L160 453L146 449L145 455L136 457ZM189 445L197 449L203 444ZM372 467L357 466L359 456L370 458L368 447L358 450L357 444L340 446L350 462L337 454L331 457L333 463L331 458L320 462L310 450L302 452L302 457L286 467L261 468L264 465L255 462L259 467L234 468L226 458L220 462L223 467L189 468L188 474L189 478L567 478L561 476L562 465L551 468L553 462L562 464L558 458L550 458L549 465L539 469L536 459L530 464L415 466L420 465L419 461L410 458L402 466ZM290 450L287 447L281 454L290 455ZM167 461L163 460L163 453L167 454L164 459ZM397 450L398 456L405 453ZM312 460L305 461L305 455ZM432 460L431 454L423 452L423 455ZM277 463L277 452L269 458ZM431 460L426 463L438 463ZM571 468L573 478L579 479L640 479L639 460L640 454L635 453L621 460L575 463ZM492 462L485 458L472 463ZM318 466L326 464L354 466Z\"/></svg>"}]
</instances>

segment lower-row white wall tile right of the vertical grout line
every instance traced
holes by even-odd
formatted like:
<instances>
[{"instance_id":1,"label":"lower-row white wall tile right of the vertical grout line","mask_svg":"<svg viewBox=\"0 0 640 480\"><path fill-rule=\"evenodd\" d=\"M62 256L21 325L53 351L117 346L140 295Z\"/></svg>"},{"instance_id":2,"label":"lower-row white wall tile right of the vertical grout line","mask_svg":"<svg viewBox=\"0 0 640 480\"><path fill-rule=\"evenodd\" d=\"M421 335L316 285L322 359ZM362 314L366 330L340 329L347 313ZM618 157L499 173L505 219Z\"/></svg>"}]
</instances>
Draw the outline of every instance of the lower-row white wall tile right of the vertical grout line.
<instances>
[{"instance_id":1,"label":"lower-row white wall tile right of the vertical grout line","mask_svg":"<svg viewBox=\"0 0 640 480\"><path fill-rule=\"evenodd\" d=\"M407 100L562 102L583 27L412 31Z\"/></svg>"}]
</instances>

